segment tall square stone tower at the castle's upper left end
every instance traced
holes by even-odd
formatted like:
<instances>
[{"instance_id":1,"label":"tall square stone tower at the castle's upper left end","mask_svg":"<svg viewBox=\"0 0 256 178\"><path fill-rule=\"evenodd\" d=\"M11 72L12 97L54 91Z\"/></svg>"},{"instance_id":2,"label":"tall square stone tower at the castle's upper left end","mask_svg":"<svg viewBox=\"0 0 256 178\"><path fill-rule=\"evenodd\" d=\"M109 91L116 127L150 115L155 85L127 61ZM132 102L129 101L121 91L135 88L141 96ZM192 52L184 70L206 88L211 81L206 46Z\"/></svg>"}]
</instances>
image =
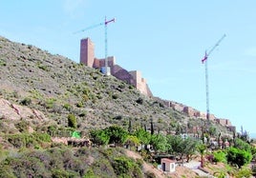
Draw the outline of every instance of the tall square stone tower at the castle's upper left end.
<instances>
[{"instance_id":1,"label":"tall square stone tower at the castle's upper left end","mask_svg":"<svg viewBox=\"0 0 256 178\"><path fill-rule=\"evenodd\" d=\"M81 39L80 63L93 68L95 61L95 45L90 38Z\"/></svg>"}]
</instances>

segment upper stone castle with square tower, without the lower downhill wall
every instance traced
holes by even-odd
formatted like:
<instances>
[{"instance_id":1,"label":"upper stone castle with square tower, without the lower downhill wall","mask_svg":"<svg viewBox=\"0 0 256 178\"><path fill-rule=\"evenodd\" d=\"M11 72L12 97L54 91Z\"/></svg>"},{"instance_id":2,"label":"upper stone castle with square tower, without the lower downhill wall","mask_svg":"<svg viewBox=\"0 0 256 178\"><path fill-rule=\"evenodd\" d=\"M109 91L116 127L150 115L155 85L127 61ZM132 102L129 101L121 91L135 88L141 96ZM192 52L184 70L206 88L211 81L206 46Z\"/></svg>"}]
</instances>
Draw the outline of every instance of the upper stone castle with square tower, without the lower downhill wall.
<instances>
[{"instance_id":1,"label":"upper stone castle with square tower, without the lower downhill wall","mask_svg":"<svg viewBox=\"0 0 256 178\"><path fill-rule=\"evenodd\" d=\"M110 69L110 74L117 77L130 85L133 85L142 94L146 96L153 96L149 89L146 80L142 78L139 70L128 71L116 64L115 56L107 57L107 67ZM81 39L80 43L80 63L85 66L100 69L105 69L105 59L97 59L95 57L95 45L90 38ZM105 69L108 70L108 69Z\"/></svg>"}]
</instances>

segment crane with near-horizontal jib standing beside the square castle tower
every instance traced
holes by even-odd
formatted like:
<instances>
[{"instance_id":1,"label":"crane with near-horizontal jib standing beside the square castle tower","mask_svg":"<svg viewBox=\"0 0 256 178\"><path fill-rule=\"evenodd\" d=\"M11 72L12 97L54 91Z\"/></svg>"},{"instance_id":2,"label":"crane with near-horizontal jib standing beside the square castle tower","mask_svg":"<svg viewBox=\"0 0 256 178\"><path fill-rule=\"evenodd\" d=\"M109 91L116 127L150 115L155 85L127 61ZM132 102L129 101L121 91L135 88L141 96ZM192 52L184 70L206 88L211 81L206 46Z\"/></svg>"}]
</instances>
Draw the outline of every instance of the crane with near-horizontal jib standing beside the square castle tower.
<instances>
[{"instance_id":1,"label":"crane with near-horizontal jib standing beside the square castle tower","mask_svg":"<svg viewBox=\"0 0 256 178\"><path fill-rule=\"evenodd\" d=\"M111 22L115 22L115 21L116 21L116 18L113 18L111 20L107 20L107 17L105 16L105 22L90 26L90 27L85 28L83 30L75 31L75 33L78 33L78 32L83 32L83 31L86 31L86 30L95 29L96 27L99 27L99 26L102 26L102 25L105 26L105 69L103 70L103 73L106 74L106 75L110 75L110 70L108 70L108 24L111 23Z\"/></svg>"}]
</instances>

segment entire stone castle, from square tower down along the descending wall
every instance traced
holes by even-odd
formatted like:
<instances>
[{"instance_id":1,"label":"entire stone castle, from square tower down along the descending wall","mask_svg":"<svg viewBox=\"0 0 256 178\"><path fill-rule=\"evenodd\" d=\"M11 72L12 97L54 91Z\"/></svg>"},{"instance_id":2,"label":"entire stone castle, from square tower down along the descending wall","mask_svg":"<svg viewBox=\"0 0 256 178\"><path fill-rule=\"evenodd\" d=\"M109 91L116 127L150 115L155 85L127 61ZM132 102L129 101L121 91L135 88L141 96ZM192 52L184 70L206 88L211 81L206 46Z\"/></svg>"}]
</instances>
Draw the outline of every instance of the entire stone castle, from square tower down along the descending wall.
<instances>
[{"instance_id":1,"label":"entire stone castle, from square tower down along the descending wall","mask_svg":"<svg viewBox=\"0 0 256 178\"><path fill-rule=\"evenodd\" d=\"M107 61L108 61L107 67L109 68L109 72L110 72L109 74L117 77L117 79L119 80L122 80L130 85L133 85L142 94L149 97L154 97L146 83L146 80L142 78L139 70L128 71L126 69L121 68L116 64L116 59L114 56L107 57ZM106 67L105 59L97 59L95 57L95 45L90 38L81 39L80 63L94 69L100 69L101 71L103 70L108 71L108 69L104 69ZM162 100L157 97L155 98L160 100L160 102L163 103L164 106L181 111L189 117L206 119L206 114L202 111L184 106L177 102ZM216 118L213 114L210 114L209 119L230 130L236 129L234 126L232 126L231 122L228 119Z\"/></svg>"}]
</instances>

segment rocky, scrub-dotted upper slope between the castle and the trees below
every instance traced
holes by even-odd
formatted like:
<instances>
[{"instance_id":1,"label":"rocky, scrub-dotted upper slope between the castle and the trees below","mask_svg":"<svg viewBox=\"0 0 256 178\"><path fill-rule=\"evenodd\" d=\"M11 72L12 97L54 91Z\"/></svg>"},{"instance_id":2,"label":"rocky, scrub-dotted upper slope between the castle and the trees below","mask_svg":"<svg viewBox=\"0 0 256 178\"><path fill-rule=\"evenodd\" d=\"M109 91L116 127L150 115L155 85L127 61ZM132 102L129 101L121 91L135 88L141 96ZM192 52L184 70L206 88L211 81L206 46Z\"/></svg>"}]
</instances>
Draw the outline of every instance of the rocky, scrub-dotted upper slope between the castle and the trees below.
<instances>
[{"instance_id":1,"label":"rocky, scrub-dotted upper slope between the castle and the trees below","mask_svg":"<svg viewBox=\"0 0 256 178\"><path fill-rule=\"evenodd\" d=\"M41 111L58 127L67 127L68 115L74 114L78 129L84 131L113 124L126 128L129 119L134 128L149 128L153 119L160 131L203 126L203 120L166 108L113 76L4 37L0 37L0 96Z\"/></svg>"}]
</instances>

